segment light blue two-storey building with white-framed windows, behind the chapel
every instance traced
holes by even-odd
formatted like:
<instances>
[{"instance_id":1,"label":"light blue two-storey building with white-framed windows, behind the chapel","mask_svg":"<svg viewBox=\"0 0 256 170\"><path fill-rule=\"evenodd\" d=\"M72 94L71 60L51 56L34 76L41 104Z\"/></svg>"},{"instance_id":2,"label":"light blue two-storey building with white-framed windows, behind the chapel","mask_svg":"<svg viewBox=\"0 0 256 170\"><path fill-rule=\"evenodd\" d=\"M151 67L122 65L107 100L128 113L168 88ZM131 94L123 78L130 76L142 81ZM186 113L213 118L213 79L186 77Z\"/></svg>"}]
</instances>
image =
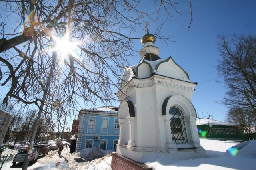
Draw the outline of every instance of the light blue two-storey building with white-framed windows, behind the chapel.
<instances>
[{"instance_id":1,"label":"light blue two-storey building with white-framed windows, behind the chapel","mask_svg":"<svg viewBox=\"0 0 256 170\"><path fill-rule=\"evenodd\" d=\"M94 146L102 150L114 150L119 139L117 111L117 107L82 109L78 115L76 152Z\"/></svg>"}]
</instances>

